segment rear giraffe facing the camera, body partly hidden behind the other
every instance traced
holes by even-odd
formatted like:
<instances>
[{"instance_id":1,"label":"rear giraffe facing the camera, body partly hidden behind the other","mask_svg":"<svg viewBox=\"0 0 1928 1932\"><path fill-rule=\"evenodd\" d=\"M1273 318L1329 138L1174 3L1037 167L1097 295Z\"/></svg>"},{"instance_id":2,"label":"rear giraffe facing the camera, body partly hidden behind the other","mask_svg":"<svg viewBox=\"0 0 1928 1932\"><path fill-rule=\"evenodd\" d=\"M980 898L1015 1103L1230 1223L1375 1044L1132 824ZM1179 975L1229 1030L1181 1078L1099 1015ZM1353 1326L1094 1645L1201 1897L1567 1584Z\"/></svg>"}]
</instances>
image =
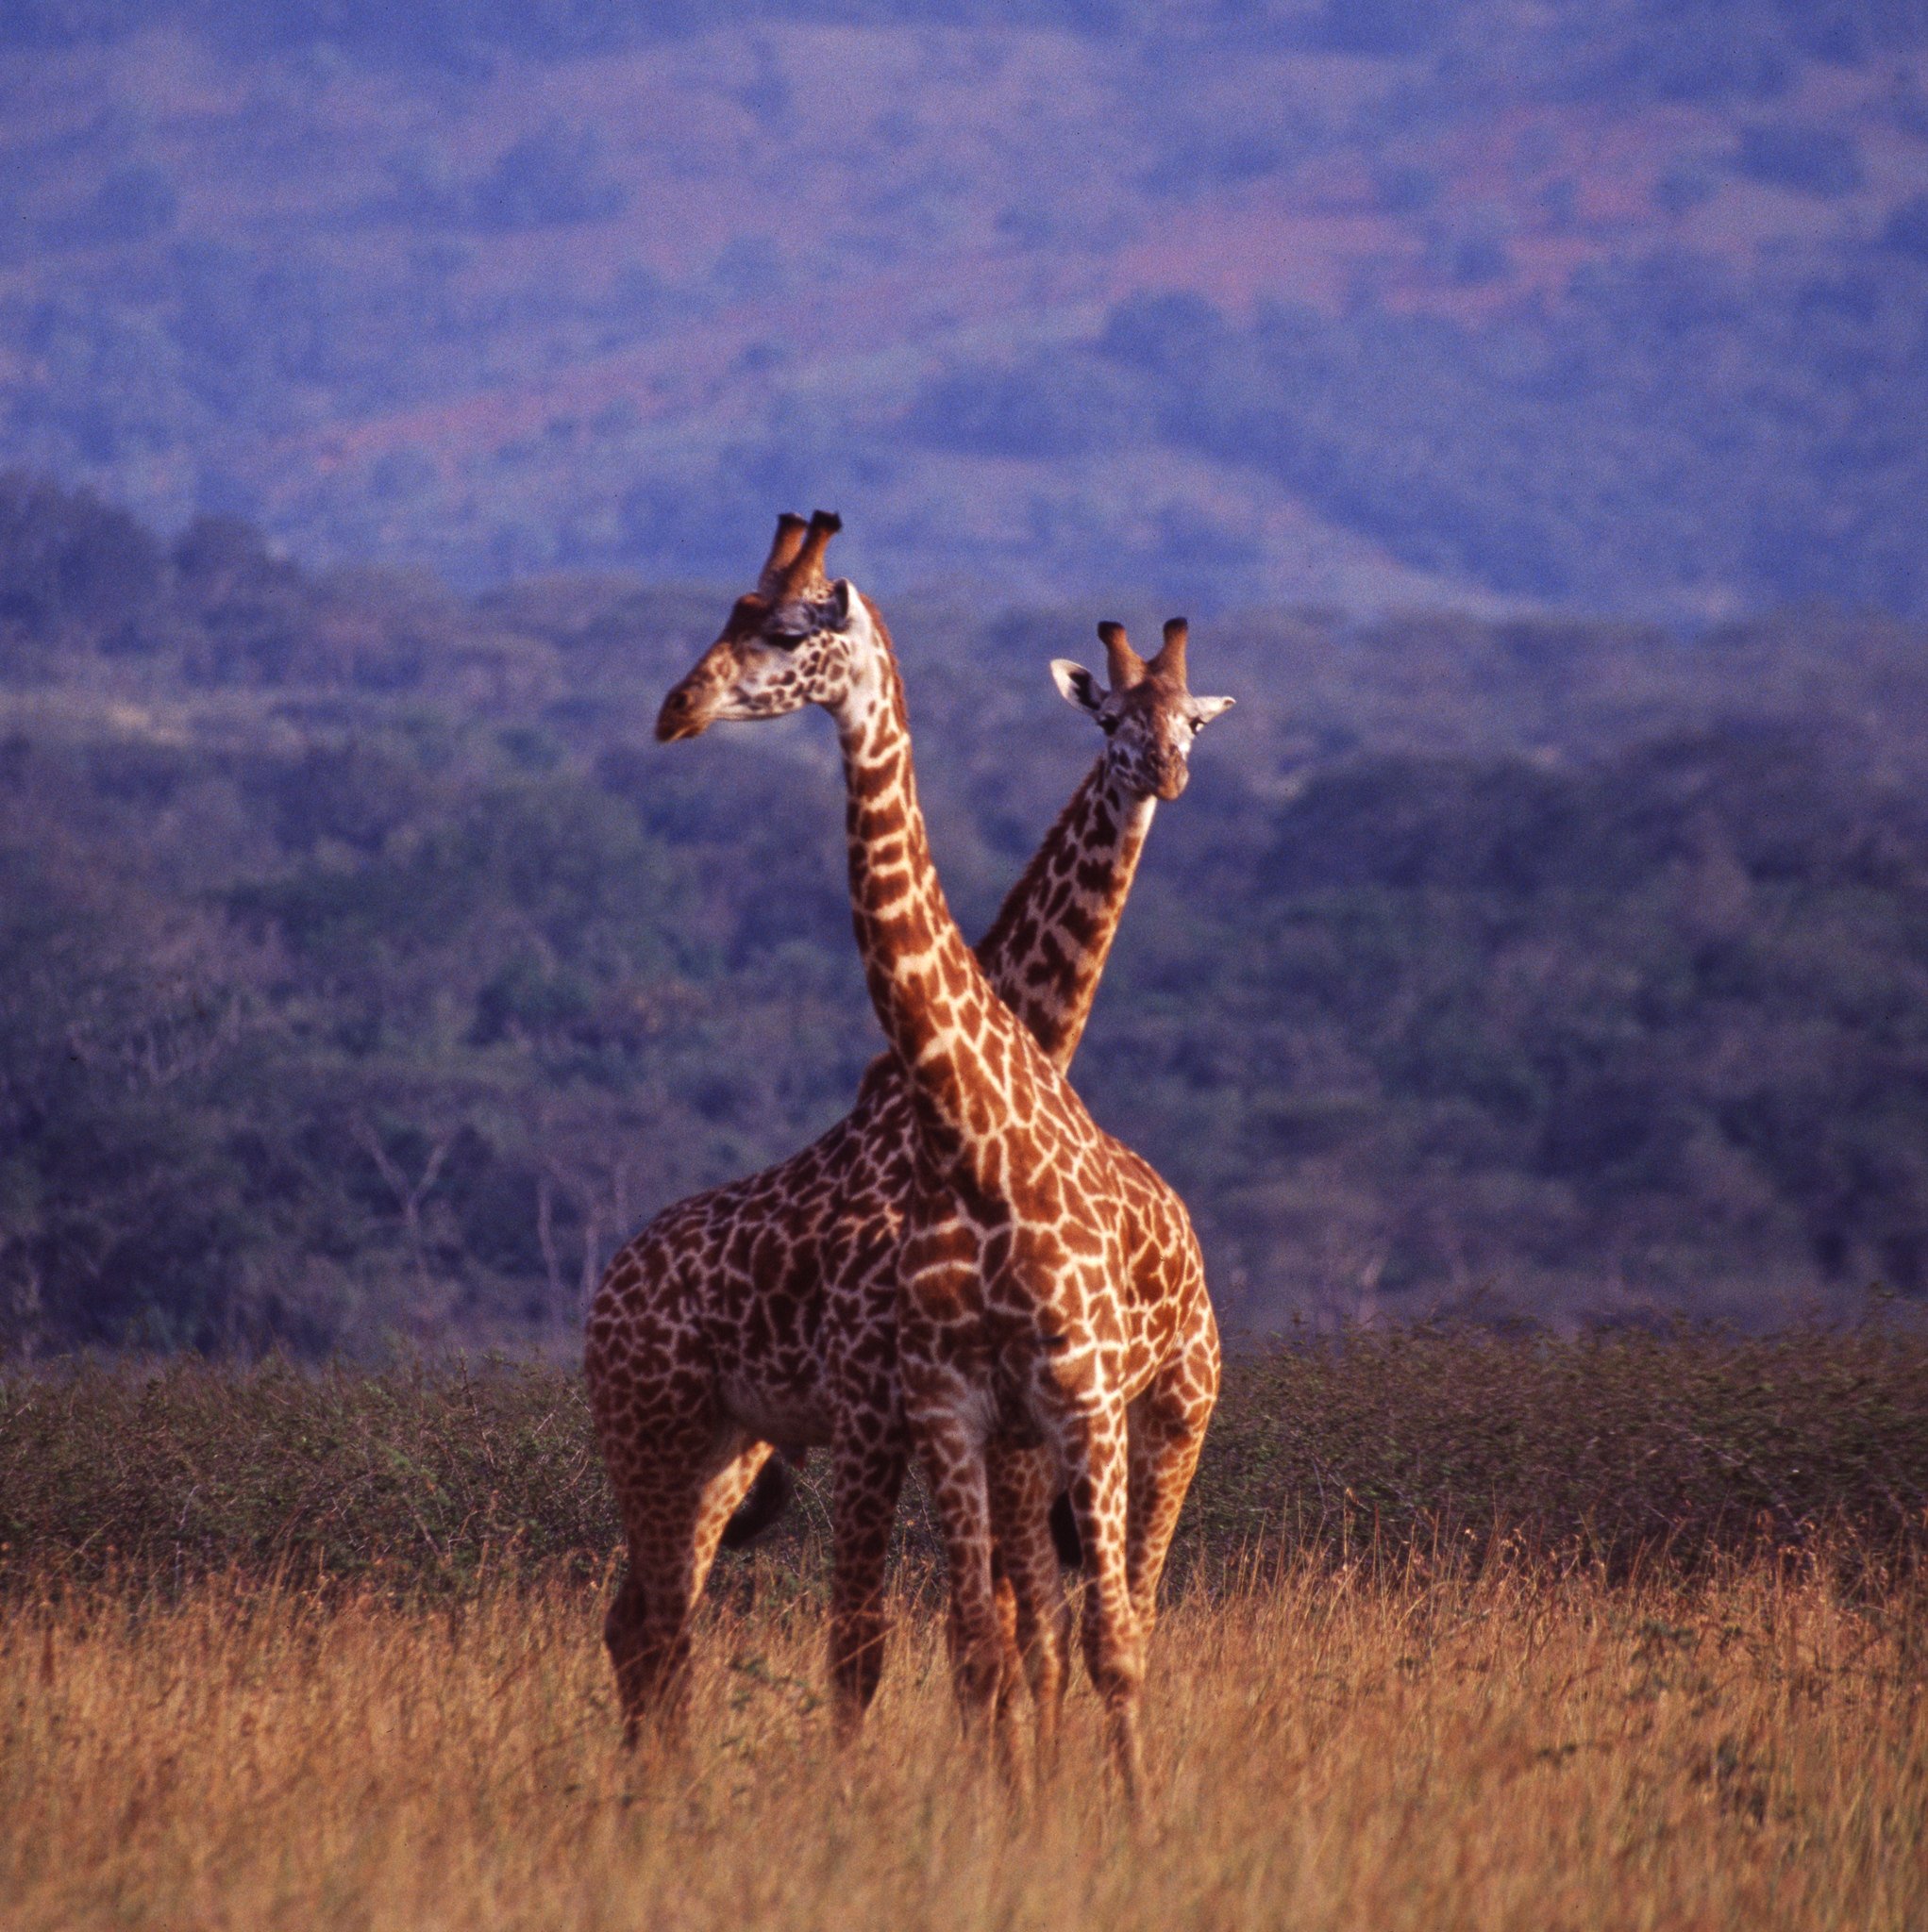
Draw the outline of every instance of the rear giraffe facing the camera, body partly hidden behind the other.
<instances>
[{"instance_id":1,"label":"rear giraffe facing the camera, body partly hidden behind the other","mask_svg":"<svg viewBox=\"0 0 1928 1932\"><path fill-rule=\"evenodd\" d=\"M732 630L769 612L802 545L802 518L780 520ZM1155 792L1171 790L1175 773L1182 784L1192 734L1231 705L1188 694L1182 647L1163 676L1148 678L1122 628L1101 626L1101 638L1109 692L1068 661L1053 676L1099 723L1105 752L979 945L993 985L1059 1063L1084 1034ZM763 1464L773 1439L833 1451L831 1681L844 1735L875 1694L883 1565L908 1459L894 1252L912 1177L910 1097L883 1055L854 1111L815 1144L674 1204L609 1264L587 1320L585 1370L630 1553L605 1633L630 1739L645 1712L672 1723L680 1712L692 1605L719 1542L748 1540L759 1526L730 1522L730 1511L759 1468L777 1468ZM1003 1551L1007 1621L1049 1760L1063 1656L1043 1615L1057 1565L1035 1534L1035 1453L1005 1455L993 1480L1001 1517L1024 1526ZM780 1486L757 1490L757 1513L775 1515Z\"/></svg>"}]
</instances>

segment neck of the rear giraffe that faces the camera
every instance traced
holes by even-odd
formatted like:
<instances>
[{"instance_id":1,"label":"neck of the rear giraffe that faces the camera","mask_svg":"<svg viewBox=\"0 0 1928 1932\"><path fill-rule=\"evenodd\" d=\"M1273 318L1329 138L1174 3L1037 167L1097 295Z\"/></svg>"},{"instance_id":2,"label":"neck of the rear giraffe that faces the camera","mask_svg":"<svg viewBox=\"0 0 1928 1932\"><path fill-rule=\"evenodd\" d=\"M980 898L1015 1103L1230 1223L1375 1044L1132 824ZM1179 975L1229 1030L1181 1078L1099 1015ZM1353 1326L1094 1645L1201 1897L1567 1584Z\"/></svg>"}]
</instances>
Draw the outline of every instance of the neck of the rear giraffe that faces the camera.
<instances>
[{"instance_id":1,"label":"neck of the rear giraffe that faces the camera","mask_svg":"<svg viewBox=\"0 0 1928 1932\"><path fill-rule=\"evenodd\" d=\"M997 997L1061 1070L1092 1016L1155 810L1101 757L978 941Z\"/></svg>"}]
</instances>

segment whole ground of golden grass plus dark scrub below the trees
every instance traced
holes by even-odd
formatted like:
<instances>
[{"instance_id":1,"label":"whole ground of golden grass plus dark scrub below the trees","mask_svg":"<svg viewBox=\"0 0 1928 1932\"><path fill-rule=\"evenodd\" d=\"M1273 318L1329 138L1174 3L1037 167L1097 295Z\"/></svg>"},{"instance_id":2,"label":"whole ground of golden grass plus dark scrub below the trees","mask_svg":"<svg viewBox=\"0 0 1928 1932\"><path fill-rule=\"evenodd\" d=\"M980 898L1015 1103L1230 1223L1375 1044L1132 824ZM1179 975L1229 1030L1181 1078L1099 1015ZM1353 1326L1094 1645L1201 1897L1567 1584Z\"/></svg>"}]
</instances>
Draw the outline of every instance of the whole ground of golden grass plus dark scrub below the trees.
<instances>
[{"instance_id":1,"label":"whole ground of golden grass plus dark scrub below the trees","mask_svg":"<svg viewBox=\"0 0 1928 1932\"><path fill-rule=\"evenodd\" d=\"M1130 1816L1080 1683L960 1762L916 1505L833 1745L821 1495L624 1754L566 1368L0 1379L0 1924L1928 1922L1928 1347L1364 1333L1234 1356Z\"/></svg>"}]
</instances>

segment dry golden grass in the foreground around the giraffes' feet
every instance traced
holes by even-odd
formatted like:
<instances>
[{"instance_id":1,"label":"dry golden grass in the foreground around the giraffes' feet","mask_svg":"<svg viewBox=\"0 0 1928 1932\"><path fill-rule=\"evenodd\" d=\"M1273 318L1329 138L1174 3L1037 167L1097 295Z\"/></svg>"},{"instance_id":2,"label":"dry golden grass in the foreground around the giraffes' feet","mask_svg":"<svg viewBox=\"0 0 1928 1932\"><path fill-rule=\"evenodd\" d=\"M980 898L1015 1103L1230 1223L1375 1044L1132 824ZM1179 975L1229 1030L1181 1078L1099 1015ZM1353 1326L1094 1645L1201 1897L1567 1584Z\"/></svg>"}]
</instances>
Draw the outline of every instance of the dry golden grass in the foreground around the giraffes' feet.
<instances>
[{"instance_id":1,"label":"dry golden grass in the foreground around the giraffes' feet","mask_svg":"<svg viewBox=\"0 0 1928 1932\"><path fill-rule=\"evenodd\" d=\"M616 1748L599 1605L211 1582L0 1623L0 1922L147 1926L1928 1924L1928 1604L1766 1567L1194 1594L1155 1797L1016 1818L927 1613L838 1758L808 1604L719 1609L682 1760Z\"/></svg>"}]
</instances>

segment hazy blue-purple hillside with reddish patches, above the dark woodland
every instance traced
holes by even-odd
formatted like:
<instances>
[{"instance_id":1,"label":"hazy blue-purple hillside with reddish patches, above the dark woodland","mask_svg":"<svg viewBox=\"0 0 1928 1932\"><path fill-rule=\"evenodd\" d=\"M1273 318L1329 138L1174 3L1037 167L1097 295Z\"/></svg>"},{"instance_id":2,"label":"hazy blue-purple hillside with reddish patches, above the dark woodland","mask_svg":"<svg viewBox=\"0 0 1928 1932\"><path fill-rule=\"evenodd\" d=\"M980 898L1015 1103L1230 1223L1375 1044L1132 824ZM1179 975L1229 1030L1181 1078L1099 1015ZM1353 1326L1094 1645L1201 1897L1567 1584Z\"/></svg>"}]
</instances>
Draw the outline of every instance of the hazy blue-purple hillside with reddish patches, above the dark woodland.
<instances>
[{"instance_id":1,"label":"hazy blue-purple hillside with reddish patches, above the dark woodland","mask_svg":"<svg viewBox=\"0 0 1928 1932\"><path fill-rule=\"evenodd\" d=\"M1928 614L1922 0L12 0L0 456L479 587Z\"/></svg>"}]
</instances>

